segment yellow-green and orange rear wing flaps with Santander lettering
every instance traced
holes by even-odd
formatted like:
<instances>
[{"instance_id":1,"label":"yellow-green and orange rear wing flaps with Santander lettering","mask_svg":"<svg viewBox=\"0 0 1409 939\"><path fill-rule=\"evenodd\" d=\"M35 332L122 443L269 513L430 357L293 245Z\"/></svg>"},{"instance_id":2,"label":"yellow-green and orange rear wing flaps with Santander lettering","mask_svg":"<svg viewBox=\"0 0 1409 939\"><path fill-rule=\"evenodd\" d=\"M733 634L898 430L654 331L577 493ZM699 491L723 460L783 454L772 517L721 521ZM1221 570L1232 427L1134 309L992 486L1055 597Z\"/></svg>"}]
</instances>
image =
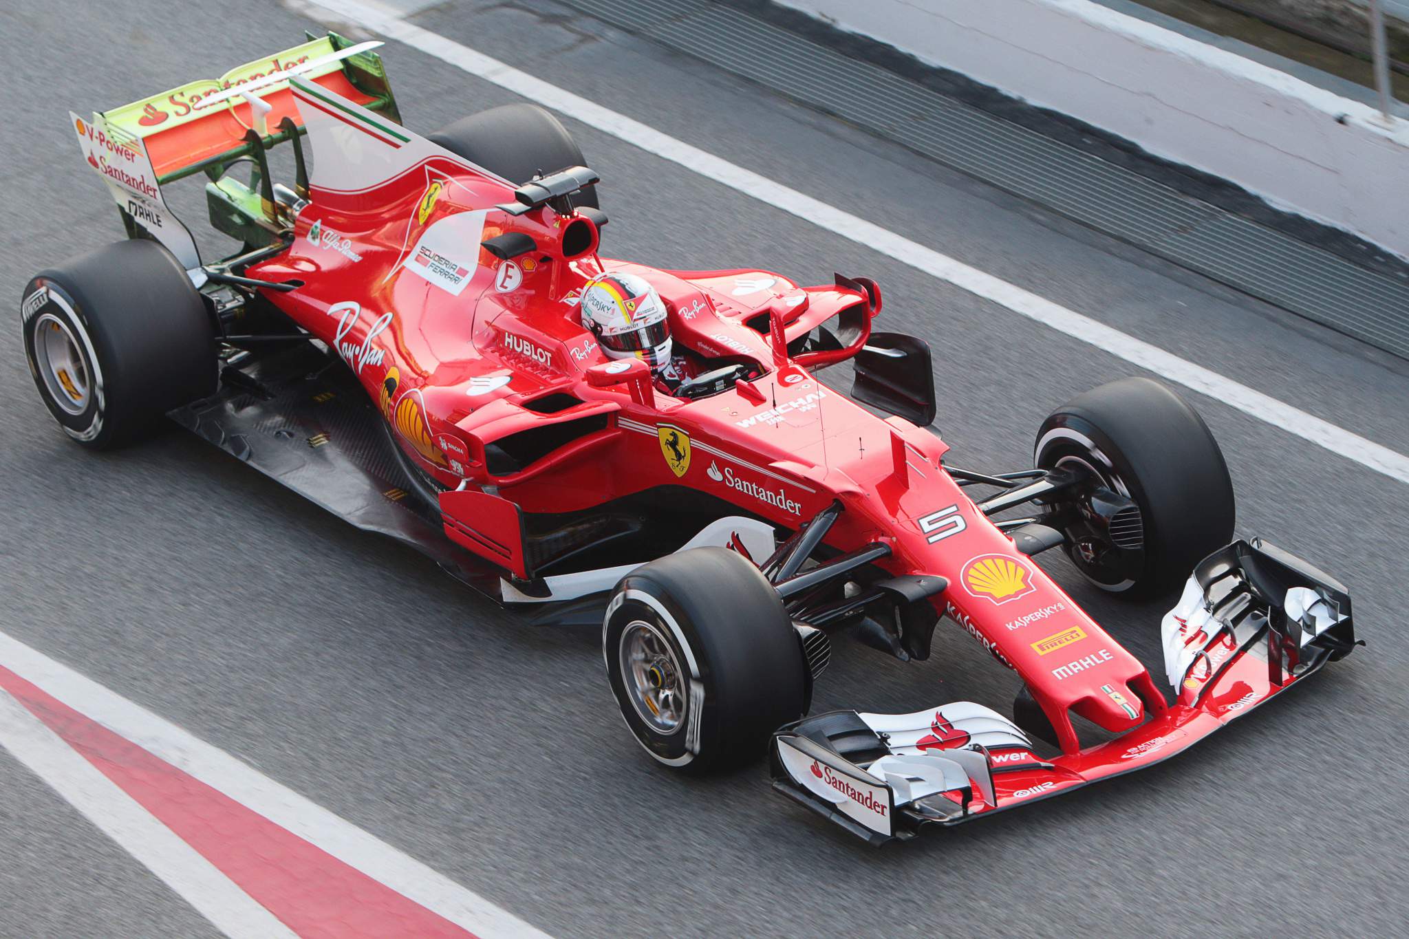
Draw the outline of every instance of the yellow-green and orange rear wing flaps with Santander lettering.
<instances>
[{"instance_id":1,"label":"yellow-green and orange rear wing flaps with Santander lettering","mask_svg":"<svg viewBox=\"0 0 1409 939\"><path fill-rule=\"evenodd\" d=\"M269 132L269 128L278 128L286 117L296 127L303 125L289 90L293 76L321 84L371 111L382 111L400 124L382 59L372 52L379 45L352 44L330 32L230 69L218 79L189 82L104 111L101 117L117 135L142 141L161 183L221 168L252 153L254 146L245 141L251 128L259 128L265 148L289 139L286 131ZM262 121L247 93L258 93L269 106Z\"/></svg>"}]
</instances>

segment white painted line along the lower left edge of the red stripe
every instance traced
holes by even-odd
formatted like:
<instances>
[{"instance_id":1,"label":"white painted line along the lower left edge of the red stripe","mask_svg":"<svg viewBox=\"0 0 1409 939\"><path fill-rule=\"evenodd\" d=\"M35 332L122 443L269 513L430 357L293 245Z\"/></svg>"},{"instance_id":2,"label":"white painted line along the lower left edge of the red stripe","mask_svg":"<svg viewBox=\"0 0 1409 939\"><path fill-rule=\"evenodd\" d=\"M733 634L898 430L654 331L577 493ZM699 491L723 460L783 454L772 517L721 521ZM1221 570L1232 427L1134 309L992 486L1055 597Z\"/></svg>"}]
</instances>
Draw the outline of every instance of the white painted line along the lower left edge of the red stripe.
<instances>
[{"instance_id":1,"label":"white painted line along the lower left edge of the red stripe","mask_svg":"<svg viewBox=\"0 0 1409 939\"><path fill-rule=\"evenodd\" d=\"M0 690L0 746L227 936L293 938L294 933L272 912L156 821L4 690Z\"/></svg>"}]
</instances>

